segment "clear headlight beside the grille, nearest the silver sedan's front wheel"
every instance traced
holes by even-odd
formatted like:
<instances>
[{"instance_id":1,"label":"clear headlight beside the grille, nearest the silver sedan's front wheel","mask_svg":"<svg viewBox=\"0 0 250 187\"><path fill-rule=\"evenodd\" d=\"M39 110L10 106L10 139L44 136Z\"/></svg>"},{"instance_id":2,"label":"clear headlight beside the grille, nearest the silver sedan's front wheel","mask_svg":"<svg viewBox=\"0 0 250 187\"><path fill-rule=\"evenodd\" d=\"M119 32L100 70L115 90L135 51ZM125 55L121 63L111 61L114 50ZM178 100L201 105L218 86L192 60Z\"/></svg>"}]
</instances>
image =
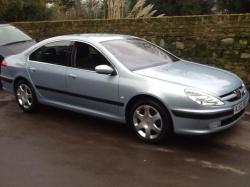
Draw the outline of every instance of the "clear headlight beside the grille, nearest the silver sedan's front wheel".
<instances>
[{"instance_id":1,"label":"clear headlight beside the grille, nearest the silver sedan's front wheel","mask_svg":"<svg viewBox=\"0 0 250 187\"><path fill-rule=\"evenodd\" d=\"M200 105L205 105L205 106L220 106L224 105L224 103L219 100L218 98L196 91L196 90L189 90L186 89L185 93L187 96L193 100L194 102L200 104Z\"/></svg>"}]
</instances>

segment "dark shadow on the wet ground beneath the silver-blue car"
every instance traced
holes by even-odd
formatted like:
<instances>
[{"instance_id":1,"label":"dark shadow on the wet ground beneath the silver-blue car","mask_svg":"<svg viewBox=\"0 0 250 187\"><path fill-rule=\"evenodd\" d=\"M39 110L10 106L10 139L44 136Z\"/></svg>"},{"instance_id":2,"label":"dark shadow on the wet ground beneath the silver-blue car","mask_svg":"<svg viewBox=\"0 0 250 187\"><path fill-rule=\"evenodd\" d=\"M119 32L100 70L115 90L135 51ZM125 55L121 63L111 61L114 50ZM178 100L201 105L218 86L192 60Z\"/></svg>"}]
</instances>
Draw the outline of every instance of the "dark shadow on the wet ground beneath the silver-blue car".
<instances>
[{"instance_id":1,"label":"dark shadow on the wet ground beneath the silver-blue car","mask_svg":"<svg viewBox=\"0 0 250 187\"><path fill-rule=\"evenodd\" d=\"M12 115L13 120L14 118L18 118L22 111L18 108L15 99L5 93L1 93L1 95L3 96L3 101L0 101L0 105L9 105L9 107L4 109L7 110L5 112ZM247 111L250 111L249 107ZM203 150L202 152L209 153L214 149L230 149L230 142L226 142L225 144L225 141L228 139L223 140L224 143L222 143L223 141L221 141L221 139L225 137L231 139L231 137L237 136L237 131L242 131L240 125L236 125L226 131L212 135L174 135L163 143L150 145L139 140L128 125L64 109L41 105L37 112L32 114L22 113L21 115L23 122L28 124L28 127L36 127L34 129L38 133L39 130L45 128L49 130L45 130L48 136L50 130L53 130L53 132L59 131L59 133L61 132L63 135L69 134L71 137L75 137L77 143L80 144L86 140L113 148L132 147L137 149L139 147L146 150L178 149L192 153L198 153ZM247 116L244 120L248 121L248 119L250 119L249 117L250 116Z\"/></svg>"}]
</instances>

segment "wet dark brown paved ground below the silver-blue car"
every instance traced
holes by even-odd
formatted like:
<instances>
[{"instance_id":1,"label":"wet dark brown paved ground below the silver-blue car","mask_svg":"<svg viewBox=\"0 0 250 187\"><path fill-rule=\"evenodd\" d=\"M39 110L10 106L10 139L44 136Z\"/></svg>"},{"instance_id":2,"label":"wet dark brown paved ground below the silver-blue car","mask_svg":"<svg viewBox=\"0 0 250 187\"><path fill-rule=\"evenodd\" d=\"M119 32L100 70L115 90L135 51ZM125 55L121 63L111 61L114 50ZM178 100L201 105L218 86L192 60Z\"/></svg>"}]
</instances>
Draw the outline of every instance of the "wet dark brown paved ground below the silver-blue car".
<instances>
[{"instance_id":1,"label":"wet dark brown paved ground below the silver-blue car","mask_svg":"<svg viewBox=\"0 0 250 187\"><path fill-rule=\"evenodd\" d=\"M147 145L111 121L23 113L0 91L0 186L250 186L250 108L223 133Z\"/></svg>"}]
</instances>

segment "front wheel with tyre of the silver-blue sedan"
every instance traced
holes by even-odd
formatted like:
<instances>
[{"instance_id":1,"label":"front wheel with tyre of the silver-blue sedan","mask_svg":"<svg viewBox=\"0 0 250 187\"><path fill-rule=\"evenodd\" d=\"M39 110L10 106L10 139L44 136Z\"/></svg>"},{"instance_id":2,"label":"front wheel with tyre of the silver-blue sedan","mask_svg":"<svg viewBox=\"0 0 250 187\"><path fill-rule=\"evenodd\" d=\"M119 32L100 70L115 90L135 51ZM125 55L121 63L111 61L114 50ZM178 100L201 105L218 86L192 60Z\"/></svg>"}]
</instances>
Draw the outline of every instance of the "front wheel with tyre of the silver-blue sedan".
<instances>
[{"instance_id":1,"label":"front wheel with tyre of the silver-blue sedan","mask_svg":"<svg viewBox=\"0 0 250 187\"><path fill-rule=\"evenodd\" d=\"M161 143L173 134L168 111L152 99L136 102L129 111L128 122L136 136L147 143Z\"/></svg>"}]
</instances>

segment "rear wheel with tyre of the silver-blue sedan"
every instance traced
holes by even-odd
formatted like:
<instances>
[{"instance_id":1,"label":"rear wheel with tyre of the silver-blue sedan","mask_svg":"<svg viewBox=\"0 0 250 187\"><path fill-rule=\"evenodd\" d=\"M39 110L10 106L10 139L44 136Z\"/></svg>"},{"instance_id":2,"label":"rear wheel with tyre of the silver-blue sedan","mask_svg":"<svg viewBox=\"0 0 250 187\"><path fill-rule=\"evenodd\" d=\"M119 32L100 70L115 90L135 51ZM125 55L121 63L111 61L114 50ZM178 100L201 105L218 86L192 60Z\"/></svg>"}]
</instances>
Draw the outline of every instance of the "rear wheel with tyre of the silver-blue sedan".
<instances>
[{"instance_id":1,"label":"rear wheel with tyre of the silver-blue sedan","mask_svg":"<svg viewBox=\"0 0 250 187\"><path fill-rule=\"evenodd\" d=\"M35 91L30 83L20 80L15 85L15 96L18 106L24 112L34 112L37 109L38 102Z\"/></svg>"}]
</instances>

